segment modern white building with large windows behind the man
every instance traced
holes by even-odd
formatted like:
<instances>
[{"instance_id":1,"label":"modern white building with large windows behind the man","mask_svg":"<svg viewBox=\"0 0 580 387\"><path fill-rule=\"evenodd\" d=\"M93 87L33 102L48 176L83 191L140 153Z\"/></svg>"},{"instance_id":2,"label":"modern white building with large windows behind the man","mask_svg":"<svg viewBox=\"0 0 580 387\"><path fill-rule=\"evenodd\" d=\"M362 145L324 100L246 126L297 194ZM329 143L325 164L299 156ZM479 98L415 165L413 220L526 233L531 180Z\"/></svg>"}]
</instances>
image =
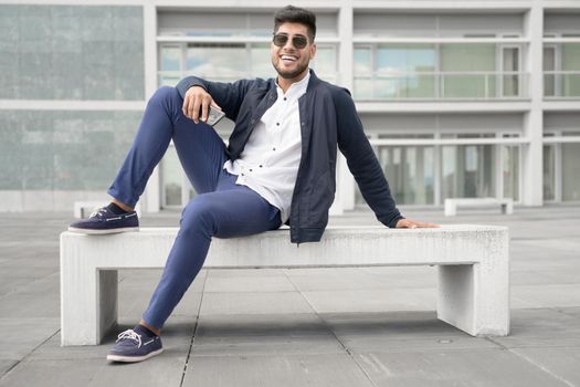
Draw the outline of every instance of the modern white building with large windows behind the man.
<instances>
[{"instance_id":1,"label":"modern white building with large windows behind the man","mask_svg":"<svg viewBox=\"0 0 580 387\"><path fill-rule=\"evenodd\" d=\"M106 199L158 86L274 76L286 3L0 0L0 210ZM398 203L580 202L580 1L293 3L316 12L313 69L351 91ZM338 175L334 210L363 205ZM192 195L170 148L144 209Z\"/></svg>"}]
</instances>

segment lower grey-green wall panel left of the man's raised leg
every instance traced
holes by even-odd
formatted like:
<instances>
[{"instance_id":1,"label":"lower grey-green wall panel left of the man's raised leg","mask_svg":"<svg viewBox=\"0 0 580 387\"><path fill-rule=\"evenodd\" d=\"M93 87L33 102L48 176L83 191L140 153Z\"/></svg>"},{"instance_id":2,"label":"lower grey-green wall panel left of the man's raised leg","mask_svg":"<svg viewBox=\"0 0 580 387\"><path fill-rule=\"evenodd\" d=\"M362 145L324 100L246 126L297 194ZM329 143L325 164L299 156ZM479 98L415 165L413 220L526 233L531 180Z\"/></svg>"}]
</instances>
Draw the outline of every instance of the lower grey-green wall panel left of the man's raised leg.
<instances>
[{"instance_id":1,"label":"lower grey-green wall panel left of the man's raised leg","mask_svg":"<svg viewBox=\"0 0 580 387\"><path fill-rule=\"evenodd\" d=\"M105 191L140 118L140 112L0 111L0 189Z\"/></svg>"}]
</instances>

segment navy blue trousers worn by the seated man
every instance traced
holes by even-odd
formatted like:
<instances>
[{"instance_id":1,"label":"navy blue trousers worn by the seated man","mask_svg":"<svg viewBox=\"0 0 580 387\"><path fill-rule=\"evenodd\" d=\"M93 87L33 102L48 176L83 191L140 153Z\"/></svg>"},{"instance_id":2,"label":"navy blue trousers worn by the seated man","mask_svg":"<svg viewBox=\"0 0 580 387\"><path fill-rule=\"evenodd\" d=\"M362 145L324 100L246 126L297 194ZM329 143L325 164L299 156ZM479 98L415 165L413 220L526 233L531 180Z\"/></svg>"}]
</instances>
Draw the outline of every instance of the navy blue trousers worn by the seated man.
<instances>
[{"instance_id":1,"label":"navy blue trousers worn by the seated man","mask_svg":"<svg viewBox=\"0 0 580 387\"><path fill-rule=\"evenodd\" d=\"M281 226L280 210L223 169L225 145L215 130L181 112L175 87L161 87L149 100L133 146L108 194L134 207L173 139L179 160L196 190L181 213L179 232L161 280L143 320L161 328L199 273L212 237L251 236ZM232 251L235 254L235 251Z\"/></svg>"}]
</instances>

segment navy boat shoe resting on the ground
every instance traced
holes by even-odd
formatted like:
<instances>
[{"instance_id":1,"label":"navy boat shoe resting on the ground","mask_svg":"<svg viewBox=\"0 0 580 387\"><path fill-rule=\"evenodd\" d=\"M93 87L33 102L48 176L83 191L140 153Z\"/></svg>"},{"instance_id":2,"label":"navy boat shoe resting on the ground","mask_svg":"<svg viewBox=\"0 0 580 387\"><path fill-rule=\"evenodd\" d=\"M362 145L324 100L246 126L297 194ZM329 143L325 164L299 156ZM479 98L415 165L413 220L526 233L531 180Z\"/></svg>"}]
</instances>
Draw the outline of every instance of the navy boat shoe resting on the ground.
<instances>
[{"instance_id":1,"label":"navy boat shoe resting on the ground","mask_svg":"<svg viewBox=\"0 0 580 387\"><path fill-rule=\"evenodd\" d=\"M119 333L117 343L108 352L107 360L137 363L164 352L161 337L140 335L134 330Z\"/></svg>"}]
</instances>

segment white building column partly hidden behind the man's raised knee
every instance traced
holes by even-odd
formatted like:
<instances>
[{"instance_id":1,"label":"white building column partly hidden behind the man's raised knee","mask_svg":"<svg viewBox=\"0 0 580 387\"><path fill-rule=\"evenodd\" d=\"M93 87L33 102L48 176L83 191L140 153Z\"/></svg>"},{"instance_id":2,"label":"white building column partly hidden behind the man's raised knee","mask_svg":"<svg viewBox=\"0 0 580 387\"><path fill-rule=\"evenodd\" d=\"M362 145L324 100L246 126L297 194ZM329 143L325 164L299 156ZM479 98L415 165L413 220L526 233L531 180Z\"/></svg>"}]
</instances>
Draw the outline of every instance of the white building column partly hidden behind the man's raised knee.
<instances>
[{"instance_id":1,"label":"white building column partly hidden behind the man's raised knee","mask_svg":"<svg viewBox=\"0 0 580 387\"><path fill-rule=\"evenodd\" d=\"M145 97L149 100L157 90L157 9L154 4L146 3L143 8L144 15L144 50L145 50ZM143 196L145 212L159 212L160 208L160 179L159 167L156 167L147 181Z\"/></svg>"}]
</instances>

